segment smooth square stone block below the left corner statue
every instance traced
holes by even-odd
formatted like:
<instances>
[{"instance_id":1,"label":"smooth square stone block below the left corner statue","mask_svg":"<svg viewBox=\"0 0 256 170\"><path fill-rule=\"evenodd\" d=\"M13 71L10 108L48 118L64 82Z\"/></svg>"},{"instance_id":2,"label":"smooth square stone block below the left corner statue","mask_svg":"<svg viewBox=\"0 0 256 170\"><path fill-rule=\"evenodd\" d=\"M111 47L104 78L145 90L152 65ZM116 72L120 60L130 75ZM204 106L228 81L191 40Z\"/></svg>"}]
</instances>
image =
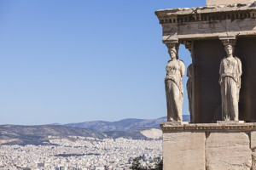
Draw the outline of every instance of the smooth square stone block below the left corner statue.
<instances>
[{"instance_id":1,"label":"smooth square stone block below the left corner statue","mask_svg":"<svg viewBox=\"0 0 256 170\"><path fill-rule=\"evenodd\" d=\"M164 133L164 170L205 170L205 133Z\"/></svg>"}]
</instances>

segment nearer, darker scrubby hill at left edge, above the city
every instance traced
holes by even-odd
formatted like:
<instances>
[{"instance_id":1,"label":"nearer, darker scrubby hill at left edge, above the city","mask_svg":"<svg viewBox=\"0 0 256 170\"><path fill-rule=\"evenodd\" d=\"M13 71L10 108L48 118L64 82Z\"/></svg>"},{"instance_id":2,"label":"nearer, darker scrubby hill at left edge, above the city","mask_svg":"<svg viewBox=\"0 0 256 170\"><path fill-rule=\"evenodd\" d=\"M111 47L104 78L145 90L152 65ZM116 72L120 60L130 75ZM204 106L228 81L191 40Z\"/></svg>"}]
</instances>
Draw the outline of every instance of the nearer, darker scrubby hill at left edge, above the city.
<instances>
[{"instance_id":1,"label":"nearer, darker scrubby hill at left edge, above the city","mask_svg":"<svg viewBox=\"0 0 256 170\"><path fill-rule=\"evenodd\" d=\"M47 144L49 142L48 136L84 136L95 139L104 139L107 137L105 133L79 127L66 127L60 125L0 125L0 141L2 143L20 145Z\"/></svg>"}]
</instances>

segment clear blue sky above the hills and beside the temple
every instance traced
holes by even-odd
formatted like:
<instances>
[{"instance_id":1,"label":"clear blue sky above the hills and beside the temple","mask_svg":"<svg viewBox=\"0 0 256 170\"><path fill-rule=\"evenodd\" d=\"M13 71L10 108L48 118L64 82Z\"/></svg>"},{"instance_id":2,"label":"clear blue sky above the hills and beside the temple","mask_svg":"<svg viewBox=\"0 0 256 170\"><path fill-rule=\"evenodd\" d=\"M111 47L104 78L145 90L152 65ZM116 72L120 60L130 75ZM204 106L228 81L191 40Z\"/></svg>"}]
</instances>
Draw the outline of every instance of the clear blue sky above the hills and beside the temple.
<instances>
[{"instance_id":1,"label":"clear blue sky above the hills and beside the temple","mask_svg":"<svg viewBox=\"0 0 256 170\"><path fill-rule=\"evenodd\" d=\"M170 58L154 11L198 6L205 1L0 1L0 124L166 116ZM179 56L191 63L183 46Z\"/></svg>"}]
</instances>

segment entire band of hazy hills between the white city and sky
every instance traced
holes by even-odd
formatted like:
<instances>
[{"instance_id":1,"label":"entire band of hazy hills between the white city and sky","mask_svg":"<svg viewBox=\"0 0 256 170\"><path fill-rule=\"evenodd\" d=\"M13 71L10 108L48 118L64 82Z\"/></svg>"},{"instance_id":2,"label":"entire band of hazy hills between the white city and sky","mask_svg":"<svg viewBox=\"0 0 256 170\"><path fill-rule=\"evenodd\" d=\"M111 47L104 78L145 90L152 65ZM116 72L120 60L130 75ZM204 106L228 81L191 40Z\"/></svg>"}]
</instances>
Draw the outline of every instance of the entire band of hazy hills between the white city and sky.
<instances>
[{"instance_id":1,"label":"entire band of hazy hills between the white city and sky","mask_svg":"<svg viewBox=\"0 0 256 170\"><path fill-rule=\"evenodd\" d=\"M183 121L189 121L189 116L183 116ZM154 135L146 134L155 131L161 133L160 122L166 122L166 117L150 120L124 119L117 122L80 122L65 125L0 125L0 144L50 144L49 136L59 138L83 136L94 139L154 139ZM160 137L160 134L158 136Z\"/></svg>"}]
</instances>

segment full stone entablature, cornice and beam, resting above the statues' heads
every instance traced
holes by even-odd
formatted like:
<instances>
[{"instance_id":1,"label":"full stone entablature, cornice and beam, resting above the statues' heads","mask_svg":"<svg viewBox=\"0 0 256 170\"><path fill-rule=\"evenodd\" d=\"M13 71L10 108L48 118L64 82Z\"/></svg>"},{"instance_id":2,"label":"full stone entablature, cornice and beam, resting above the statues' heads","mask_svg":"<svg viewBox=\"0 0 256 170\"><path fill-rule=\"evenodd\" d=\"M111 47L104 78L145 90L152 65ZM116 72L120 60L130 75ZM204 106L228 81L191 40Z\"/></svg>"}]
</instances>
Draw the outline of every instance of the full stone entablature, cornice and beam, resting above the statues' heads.
<instances>
[{"instance_id":1,"label":"full stone entablature, cornice and beam, resting above the statues' heads","mask_svg":"<svg viewBox=\"0 0 256 170\"><path fill-rule=\"evenodd\" d=\"M219 36L256 35L256 5L234 4L198 8L170 8L155 12L163 30L163 42Z\"/></svg>"}]
</instances>

